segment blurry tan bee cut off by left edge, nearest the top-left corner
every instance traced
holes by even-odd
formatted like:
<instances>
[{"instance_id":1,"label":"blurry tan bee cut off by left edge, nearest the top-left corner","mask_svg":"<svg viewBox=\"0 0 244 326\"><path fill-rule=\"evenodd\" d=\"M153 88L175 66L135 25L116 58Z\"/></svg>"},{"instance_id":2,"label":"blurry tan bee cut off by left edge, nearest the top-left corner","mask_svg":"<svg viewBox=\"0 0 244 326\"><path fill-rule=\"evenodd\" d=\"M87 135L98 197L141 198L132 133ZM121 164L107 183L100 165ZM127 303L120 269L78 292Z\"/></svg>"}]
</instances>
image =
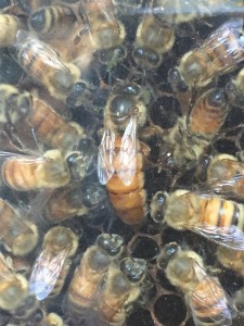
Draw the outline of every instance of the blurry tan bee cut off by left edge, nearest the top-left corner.
<instances>
[{"instance_id":1,"label":"blurry tan bee cut off by left edge, nearest the top-left corner","mask_svg":"<svg viewBox=\"0 0 244 326\"><path fill-rule=\"evenodd\" d=\"M24 27L24 23L14 15L0 14L0 47L9 47L14 42L17 30Z\"/></svg>"}]
</instances>

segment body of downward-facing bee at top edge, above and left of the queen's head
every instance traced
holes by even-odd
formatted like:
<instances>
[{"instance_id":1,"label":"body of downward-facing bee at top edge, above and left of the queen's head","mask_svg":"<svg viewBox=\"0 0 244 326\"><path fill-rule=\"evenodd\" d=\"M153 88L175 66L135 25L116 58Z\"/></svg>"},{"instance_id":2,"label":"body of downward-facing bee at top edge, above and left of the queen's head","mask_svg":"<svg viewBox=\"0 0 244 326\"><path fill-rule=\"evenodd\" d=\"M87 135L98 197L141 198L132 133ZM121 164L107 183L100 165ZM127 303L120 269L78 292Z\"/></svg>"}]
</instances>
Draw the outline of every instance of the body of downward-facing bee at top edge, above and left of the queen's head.
<instances>
[{"instance_id":1,"label":"body of downward-facing bee at top edge, above and left of the queen's head","mask_svg":"<svg viewBox=\"0 0 244 326\"><path fill-rule=\"evenodd\" d=\"M94 49L110 49L123 43L125 27L114 13L112 0L85 0L80 3L80 13L89 26Z\"/></svg>"}]
</instances>

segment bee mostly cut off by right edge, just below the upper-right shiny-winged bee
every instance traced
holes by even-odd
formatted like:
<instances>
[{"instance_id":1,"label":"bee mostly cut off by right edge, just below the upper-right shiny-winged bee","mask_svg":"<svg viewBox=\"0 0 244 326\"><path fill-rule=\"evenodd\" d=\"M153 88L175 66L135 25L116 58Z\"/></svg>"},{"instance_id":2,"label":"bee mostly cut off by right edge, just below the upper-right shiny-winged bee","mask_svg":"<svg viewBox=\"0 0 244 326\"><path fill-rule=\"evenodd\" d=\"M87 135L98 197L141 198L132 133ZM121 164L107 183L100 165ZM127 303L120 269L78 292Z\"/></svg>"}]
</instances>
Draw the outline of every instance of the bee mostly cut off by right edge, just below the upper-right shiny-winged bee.
<instances>
[{"instance_id":1,"label":"bee mostly cut off by right edge, just below the upper-right shiny-winged bee","mask_svg":"<svg viewBox=\"0 0 244 326\"><path fill-rule=\"evenodd\" d=\"M244 105L244 68L239 72L235 78L232 78L226 85L226 93L231 104L243 108Z\"/></svg>"}]
</instances>

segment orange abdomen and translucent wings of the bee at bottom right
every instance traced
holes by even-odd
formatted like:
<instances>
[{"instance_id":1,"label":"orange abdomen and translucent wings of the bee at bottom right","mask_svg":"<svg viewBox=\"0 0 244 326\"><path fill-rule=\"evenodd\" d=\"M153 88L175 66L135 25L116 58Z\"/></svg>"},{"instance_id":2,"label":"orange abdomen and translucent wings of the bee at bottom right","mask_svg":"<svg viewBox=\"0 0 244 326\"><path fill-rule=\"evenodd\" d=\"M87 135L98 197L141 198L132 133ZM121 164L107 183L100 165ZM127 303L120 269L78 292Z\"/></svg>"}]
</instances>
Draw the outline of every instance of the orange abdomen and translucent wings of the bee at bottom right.
<instances>
[{"instance_id":1,"label":"orange abdomen and translucent wings of the bee at bottom right","mask_svg":"<svg viewBox=\"0 0 244 326\"><path fill-rule=\"evenodd\" d=\"M195 324L232 325L232 318L236 315L232 300L217 278L207 275L197 263L194 264L194 268L198 283L187 293L185 299Z\"/></svg>"}]
</instances>

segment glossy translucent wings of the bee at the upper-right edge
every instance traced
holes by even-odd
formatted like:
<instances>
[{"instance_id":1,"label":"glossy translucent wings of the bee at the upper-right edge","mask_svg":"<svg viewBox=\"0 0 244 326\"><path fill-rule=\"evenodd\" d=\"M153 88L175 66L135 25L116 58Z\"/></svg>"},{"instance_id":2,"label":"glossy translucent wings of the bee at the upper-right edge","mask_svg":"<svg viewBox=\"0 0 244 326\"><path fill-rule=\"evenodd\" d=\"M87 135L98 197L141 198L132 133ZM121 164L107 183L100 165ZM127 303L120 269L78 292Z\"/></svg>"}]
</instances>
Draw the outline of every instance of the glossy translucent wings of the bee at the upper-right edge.
<instances>
[{"instance_id":1,"label":"glossy translucent wings of the bee at the upper-right edge","mask_svg":"<svg viewBox=\"0 0 244 326\"><path fill-rule=\"evenodd\" d=\"M203 51L207 50L208 55L214 58L213 66L215 65L215 61L216 61L216 65L218 66L218 62L219 60L221 60L222 62L221 71L224 71L230 68L233 65L236 65L237 62L244 60L244 37L240 36L242 33L242 27L243 27L243 18L235 17L229 20L228 22L222 24L219 28L217 28L202 45L201 49L203 49ZM217 49L220 47L224 48L226 57L227 55L231 57L233 60L224 61L224 52ZM211 72L209 72L209 74Z\"/></svg>"}]
</instances>

